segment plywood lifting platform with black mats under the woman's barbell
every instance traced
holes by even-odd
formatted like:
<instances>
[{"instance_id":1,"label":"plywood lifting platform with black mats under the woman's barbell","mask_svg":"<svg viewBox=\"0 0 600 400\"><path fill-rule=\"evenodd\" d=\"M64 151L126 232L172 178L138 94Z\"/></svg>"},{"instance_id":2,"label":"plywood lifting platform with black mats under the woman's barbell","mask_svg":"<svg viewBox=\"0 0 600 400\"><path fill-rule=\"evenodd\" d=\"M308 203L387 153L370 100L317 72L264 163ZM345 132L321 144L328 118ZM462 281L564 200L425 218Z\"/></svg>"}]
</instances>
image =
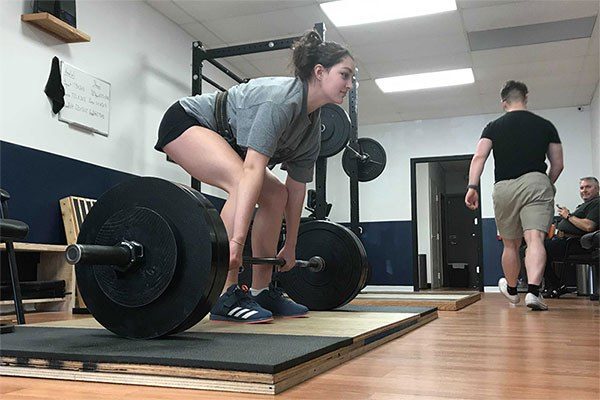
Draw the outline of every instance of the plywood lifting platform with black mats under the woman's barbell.
<instances>
[{"instance_id":1,"label":"plywood lifting platform with black mats under the woman's barbell","mask_svg":"<svg viewBox=\"0 0 600 400\"><path fill-rule=\"evenodd\" d=\"M309 318L243 326L205 319L183 334L158 341L117 338L100 329L91 318L26 325L3 336L0 374L276 394L436 318L435 309L402 312L396 307L388 312L311 312ZM46 334L38 335L36 330L40 329ZM23 343L19 343L20 334ZM67 334L75 339L64 336L61 341L61 335ZM52 340L42 339L36 345L31 340L24 343L26 336ZM75 342L85 343L86 336L90 343L99 340L97 349L92 345L77 347ZM60 349L53 350L52 343L60 343ZM227 357L222 357L225 361L221 361L215 350L216 357L207 360L208 350L219 344L224 348L230 344L241 359L228 363ZM310 352L298 355L301 345ZM111 355L111 349L116 356ZM130 354L123 354L121 349ZM257 356L255 364L244 362L244 354L246 360L253 360L257 352L262 358ZM291 355L288 357L287 353ZM164 358L157 358L156 354ZM262 359L276 361L266 365L260 363Z\"/></svg>"}]
</instances>

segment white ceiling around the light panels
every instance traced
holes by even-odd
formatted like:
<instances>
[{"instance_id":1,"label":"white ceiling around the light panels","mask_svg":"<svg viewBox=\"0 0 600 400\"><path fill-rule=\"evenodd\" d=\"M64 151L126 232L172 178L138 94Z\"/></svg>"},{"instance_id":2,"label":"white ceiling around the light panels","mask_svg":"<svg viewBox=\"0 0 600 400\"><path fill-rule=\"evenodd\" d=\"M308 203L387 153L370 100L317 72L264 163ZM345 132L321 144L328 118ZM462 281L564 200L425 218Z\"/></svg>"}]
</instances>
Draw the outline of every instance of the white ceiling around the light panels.
<instances>
[{"instance_id":1,"label":"white ceiling around the light panels","mask_svg":"<svg viewBox=\"0 0 600 400\"><path fill-rule=\"evenodd\" d=\"M598 85L598 21L590 38L482 51L471 51L467 39L472 31L596 16L598 0L457 0L457 11L340 28L319 7L327 0L146 1L206 49L298 36L324 22L326 39L347 45L358 62L361 124L498 113L508 79L528 85L532 110L588 105ZM290 75L289 53L219 61L247 78ZM374 82L466 67L474 84L384 94Z\"/></svg>"}]
</instances>

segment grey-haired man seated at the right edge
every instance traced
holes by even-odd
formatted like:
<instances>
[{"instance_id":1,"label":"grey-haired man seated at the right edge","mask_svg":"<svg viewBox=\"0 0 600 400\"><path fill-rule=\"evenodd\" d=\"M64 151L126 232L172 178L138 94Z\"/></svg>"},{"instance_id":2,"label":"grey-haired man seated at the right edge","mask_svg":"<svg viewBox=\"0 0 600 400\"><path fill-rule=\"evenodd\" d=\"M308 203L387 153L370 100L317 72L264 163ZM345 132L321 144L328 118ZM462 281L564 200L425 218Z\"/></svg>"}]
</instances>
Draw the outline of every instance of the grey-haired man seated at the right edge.
<instances>
[{"instance_id":1,"label":"grey-haired man seated at the right edge","mask_svg":"<svg viewBox=\"0 0 600 400\"><path fill-rule=\"evenodd\" d=\"M579 195L583 203L577 206L572 213L568 208L556 205L561 217L556 226L558 231L552 239L546 239L546 269L544 272L545 296L560 297L568 292L565 285L552 267L554 261L563 261L566 256L583 254L587 251L581 247L579 240L568 241L568 238L580 238L588 232L598 229L598 179L593 176L581 178L579 182ZM567 243L569 243L567 249ZM568 254L567 254L568 250Z\"/></svg>"}]
</instances>

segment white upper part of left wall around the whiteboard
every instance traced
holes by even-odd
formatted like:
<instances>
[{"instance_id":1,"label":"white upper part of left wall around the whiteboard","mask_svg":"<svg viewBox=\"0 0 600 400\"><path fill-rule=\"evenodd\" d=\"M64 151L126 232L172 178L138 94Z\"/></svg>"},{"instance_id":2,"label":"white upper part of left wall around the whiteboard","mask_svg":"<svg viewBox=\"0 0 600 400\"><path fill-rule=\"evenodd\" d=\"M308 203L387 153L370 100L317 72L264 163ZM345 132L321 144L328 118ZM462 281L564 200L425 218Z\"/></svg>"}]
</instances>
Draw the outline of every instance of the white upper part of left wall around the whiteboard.
<instances>
[{"instance_id":1,"label":"white upper part of left wall around the whiteboard","mask_svg":"<svg viewBox=\"0 0 600 400\"><path fill-rule=\"evenodd\" d=\"M29 1L0 2L2 140L189 184L153 146L163 113L191 93L194 38L142 1L78 1L77 26L89 43L66 44L21 22L30 11ZM43 90L55 55L111 83L108 137L71 128L52 113ZM219 81L216 71L204 69Z\"/></svg>"}]
</instances>

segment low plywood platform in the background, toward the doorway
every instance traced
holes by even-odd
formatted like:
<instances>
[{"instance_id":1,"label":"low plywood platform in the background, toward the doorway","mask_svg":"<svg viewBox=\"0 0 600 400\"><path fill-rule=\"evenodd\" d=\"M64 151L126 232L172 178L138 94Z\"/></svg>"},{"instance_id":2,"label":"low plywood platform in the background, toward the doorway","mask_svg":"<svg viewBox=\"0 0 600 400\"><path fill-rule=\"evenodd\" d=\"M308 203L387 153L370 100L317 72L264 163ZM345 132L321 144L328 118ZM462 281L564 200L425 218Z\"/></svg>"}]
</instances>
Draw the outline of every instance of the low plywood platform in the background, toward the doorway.
<instances>
[{"instance_id":1,"label":"low plywood platform in the background, toward the doorway","mask_svg":"<svg viewBox=\"0 0 600 400\"><path fill-rule=\"evenodd\" d=\"M440 311L458 311L480 299L480 292L361 292L350 304L437 307Z\"/></svg>"}]
</instances>

